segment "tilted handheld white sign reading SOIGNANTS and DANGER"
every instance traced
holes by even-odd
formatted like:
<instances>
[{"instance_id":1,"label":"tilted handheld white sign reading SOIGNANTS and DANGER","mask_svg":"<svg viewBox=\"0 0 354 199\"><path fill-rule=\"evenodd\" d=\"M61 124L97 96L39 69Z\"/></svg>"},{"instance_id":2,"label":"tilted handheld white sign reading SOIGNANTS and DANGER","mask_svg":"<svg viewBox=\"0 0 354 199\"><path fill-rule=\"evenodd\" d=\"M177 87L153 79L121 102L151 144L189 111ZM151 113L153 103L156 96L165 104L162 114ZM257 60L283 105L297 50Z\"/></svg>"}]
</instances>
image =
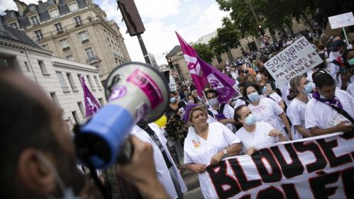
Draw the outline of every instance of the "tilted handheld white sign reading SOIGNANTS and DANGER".
<instances>
[{"instance_id":1,"label":"tilted handheld white sign reading SOIGNANTS and DANGER","mask_svg":"<svg viewBox=\"0 0 354 199\"><path fill-rule=\"evenodd\" d=\"M321 57L303 36L265 62L264 66L275 81L282 85L321 63Z\"/></svg>"}]
</instances>

